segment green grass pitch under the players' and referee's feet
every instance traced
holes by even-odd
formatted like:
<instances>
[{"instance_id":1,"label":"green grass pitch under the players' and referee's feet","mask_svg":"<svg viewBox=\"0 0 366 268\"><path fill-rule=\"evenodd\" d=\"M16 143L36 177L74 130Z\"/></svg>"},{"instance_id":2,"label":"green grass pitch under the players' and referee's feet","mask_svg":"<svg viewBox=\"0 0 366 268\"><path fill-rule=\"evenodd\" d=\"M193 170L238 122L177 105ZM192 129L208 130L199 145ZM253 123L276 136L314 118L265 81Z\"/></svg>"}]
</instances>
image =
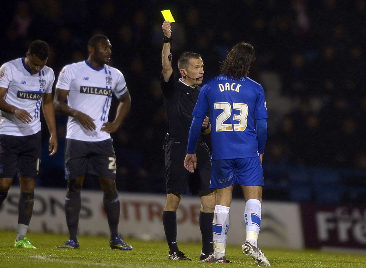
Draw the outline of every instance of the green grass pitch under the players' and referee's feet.
<instances>
[{"instance_id":1,"label":"green grass pitch under the players' and referee's feet","mask_svg":"<svg viewBox=\"0 0 366 268\"><path fill-rule=\"evenodd\" d=\"M16 233L0 231L0 267L255 267L254 260L244 256L240 246L226 248L231 264L198 263L201 245L179 243L179 248L192 261L169 261L165 241L125 239L134 249L112 250L108 237L81 236L80 249L60 250L67 235L29 233L28 238L37 249L14 248ZM262 248L261 248L262 249ZM262 249L272 267L366 267L366 256L361 254L324 253L316 250Z\"/></svg>"}]
</instances>

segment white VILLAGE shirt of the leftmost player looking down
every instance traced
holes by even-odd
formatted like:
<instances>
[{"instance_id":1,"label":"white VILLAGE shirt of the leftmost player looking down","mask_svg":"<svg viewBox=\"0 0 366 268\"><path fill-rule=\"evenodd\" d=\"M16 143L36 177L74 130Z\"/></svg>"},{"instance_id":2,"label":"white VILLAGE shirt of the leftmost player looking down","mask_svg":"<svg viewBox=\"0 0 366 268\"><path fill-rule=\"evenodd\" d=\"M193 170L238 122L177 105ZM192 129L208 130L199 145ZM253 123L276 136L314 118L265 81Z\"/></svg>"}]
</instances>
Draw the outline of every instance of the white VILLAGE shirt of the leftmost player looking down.
<instances>
[{"instance_id":1,"label":"white VILLAGE shirt of the leftmost player looking down","mask_svg":"<svg viewBox=\"0 0 366 268\"><path fill-rule=\"evenodd\" d=\"M0 87L8 89L4 99L10 105L24 109L33 117L29 124L15 114L0 111L0 134L28 136L41 130L40 108L43 93L52 93L55 74L47 66L35 75L27 69L24 58L4 63L0 68Z\"/></svg>"}]
</instances>

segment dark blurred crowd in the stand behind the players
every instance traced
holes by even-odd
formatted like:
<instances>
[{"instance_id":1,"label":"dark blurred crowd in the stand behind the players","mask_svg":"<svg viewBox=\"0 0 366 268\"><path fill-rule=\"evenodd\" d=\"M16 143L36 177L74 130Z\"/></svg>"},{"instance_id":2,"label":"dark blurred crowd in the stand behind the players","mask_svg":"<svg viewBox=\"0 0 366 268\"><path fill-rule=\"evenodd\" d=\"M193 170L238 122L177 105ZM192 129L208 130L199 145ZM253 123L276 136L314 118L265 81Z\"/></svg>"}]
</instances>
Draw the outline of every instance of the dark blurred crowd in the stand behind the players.
<instances>
[{"instance_id":1,"label":"dark blurred crowd in the stand behind the players","mask_svg":"<svg viewBox=\"0 0 366 268\"><path fill-rule=\"evenodd\" d=\"M56 79L64 65L87 58L93 34L109 37L111 65L124 74L132 98L127 120L112 135L119 189L165 192L161 147L167 117L160 91L164 9L176 20L176 79L176 60L184 51L202 55L205 82L219 74L220 61L237 42L255 47L257 60L249 77L264 86L269 112L264 166L366 169L366 0L29 0L2 9L1 63L25 56L30 41L43 39L51 46L47 65ZM115 107L116 102L110 120ZM48 133L43 128L44 186L66 184L67 118L56 117L59 152L52 158L46 157Z\"/></svg>"}]
</instances>

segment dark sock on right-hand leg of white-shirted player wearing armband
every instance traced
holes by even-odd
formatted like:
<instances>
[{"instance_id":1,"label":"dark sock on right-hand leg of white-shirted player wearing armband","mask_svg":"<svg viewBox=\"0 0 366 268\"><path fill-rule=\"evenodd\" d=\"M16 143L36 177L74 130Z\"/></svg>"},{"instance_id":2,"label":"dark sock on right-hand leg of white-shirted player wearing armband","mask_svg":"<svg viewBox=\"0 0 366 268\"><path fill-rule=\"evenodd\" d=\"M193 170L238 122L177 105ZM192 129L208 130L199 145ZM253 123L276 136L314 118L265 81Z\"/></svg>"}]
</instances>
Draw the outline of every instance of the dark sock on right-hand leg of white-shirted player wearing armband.
<instances>
[{"instance_id":1,"label":"dark sock on right-hand leg of white-shirted player wearing armband","mask_svg":"<svg viewBox=\"0 0 366 268\"><path fill-rule=\"evenodd\" d=\"M107 213L109 231L111 239L118 236L119 214L121 204L119 202L118 192L104 193L103 196L104 210Z\"/></svg>"}]
</instances>

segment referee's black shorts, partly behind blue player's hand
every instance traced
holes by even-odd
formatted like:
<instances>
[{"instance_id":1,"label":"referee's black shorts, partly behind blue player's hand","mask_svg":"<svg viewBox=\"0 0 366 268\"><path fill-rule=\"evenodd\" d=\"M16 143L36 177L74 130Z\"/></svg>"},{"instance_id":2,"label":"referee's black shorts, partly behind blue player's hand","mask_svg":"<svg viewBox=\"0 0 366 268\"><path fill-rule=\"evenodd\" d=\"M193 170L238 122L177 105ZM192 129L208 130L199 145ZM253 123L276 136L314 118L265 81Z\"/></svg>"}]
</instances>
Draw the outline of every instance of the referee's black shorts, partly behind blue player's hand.
<instances>
[{"instance_id":1,"label":"referee's black shorts, partly behind blue player's hand","mask_svg":"<svg viewBox=\"0 0 366 268\"><path fill-rule=\"evenodd\" d=\"M167 193L186 193L187 186L191 194L205 195L212 193L210 189L211 161L207 144L198 142L196 146L197 169L194 173L184 167L187 154L187 141L169 140L165 148L165 178Z\"/></svg>"}]
</instances>

